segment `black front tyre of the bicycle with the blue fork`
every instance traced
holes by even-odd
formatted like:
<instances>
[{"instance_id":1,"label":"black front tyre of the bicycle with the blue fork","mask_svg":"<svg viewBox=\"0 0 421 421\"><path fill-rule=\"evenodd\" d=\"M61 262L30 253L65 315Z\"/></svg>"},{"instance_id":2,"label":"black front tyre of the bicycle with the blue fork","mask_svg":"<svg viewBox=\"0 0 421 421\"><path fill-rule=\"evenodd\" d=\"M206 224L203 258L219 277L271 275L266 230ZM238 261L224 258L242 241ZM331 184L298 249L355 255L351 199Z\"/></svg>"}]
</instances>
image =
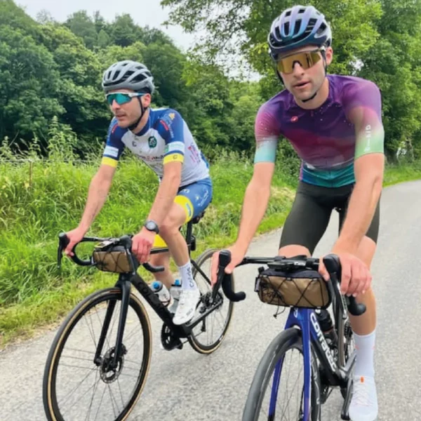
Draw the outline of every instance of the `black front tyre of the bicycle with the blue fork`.
<instances>
[{"instance_id":1,"label":"black front tyre of the bicycle with the blue fork","mask_svg":"<svg viewBox=\"0 0 421 421\"><path fill-rule=\"evenodd\" d=\"M267 386L274 373L276 363L281 356L290 349L298 349L302 353L302 338L296 328L283 330L272 340L258 365L251 382L246 404L243 410L242 421L258 421L262 400ZM321 417L320 379L317 368L316 355L312 349L312 396L310 399L311 421L319 421ZM282 380L281 380L282 381Z\"/></svg>"}]
</instances>

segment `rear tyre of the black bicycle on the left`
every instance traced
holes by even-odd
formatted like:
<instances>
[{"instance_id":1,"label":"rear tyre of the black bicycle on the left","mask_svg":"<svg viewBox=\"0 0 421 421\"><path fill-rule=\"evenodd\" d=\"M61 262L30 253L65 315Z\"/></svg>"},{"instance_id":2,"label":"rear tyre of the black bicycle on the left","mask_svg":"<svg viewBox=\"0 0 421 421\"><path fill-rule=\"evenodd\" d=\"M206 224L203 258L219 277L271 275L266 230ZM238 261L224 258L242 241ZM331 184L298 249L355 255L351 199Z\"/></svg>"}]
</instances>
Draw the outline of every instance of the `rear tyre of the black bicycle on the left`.
<instances>
[{"instance_id":1,"label":"rear tyre of the black bicycle on the left","mask_svg":"<svg viewBox=\"0 0 421 421\"><path fill-rule=\"evenodd\" d=\"M212 258L213 253L215 253L215 251L217 251L217 249L210 248L208 250L205 250L203 253L201 253L201 255L199 256L199 258L197 258L196 265L199 266L199 267L203 266L203 263L205 263L206 260L210 260ZM209 264L210 264L210 262L209 262ZM192 271L193 278L196 279L196 275L199 274L199 272L196 269L196 267L194 267L194 266L192 267L192 269L193 269L193 271ZM206 283L208 284L208 290L210 291L211 290L211 288L210 288L210 280L207 279L207 278L204 278L204 279L205 279ZM233 274L232 284L233 284L233 287L234 287L234 274ZM225 295L223 295L222 288L220 289L220 291L221 291L221 294L222 294L222 299L223 300L228 300L225 297ZM201 292L203 293L203 291L201 291ZM189 335L189 337L187 338L189 340L189 344L192 346L192 348L196 352L199 352L199 354L211 354L211 353L215 352L216 349L218 349L220 347L220 345L222 343L222 340L225 338L225 335L227 334L229 325L231 323L233 310L234 310L234 303L231 302L231 301L229 301L229 307L228 307L227 317L225 318L225 325L222 328L222 332L220 333L218 339L215 340L215 341L213 341L210 345L203 345L199 341L199 335L195 335L194 333L192 333L191 335ZM218 311L218 310L215 310L215 312L216 311ZM215 312L210 313L209 316L211 316Z\"/></svg>"}]
</instances>

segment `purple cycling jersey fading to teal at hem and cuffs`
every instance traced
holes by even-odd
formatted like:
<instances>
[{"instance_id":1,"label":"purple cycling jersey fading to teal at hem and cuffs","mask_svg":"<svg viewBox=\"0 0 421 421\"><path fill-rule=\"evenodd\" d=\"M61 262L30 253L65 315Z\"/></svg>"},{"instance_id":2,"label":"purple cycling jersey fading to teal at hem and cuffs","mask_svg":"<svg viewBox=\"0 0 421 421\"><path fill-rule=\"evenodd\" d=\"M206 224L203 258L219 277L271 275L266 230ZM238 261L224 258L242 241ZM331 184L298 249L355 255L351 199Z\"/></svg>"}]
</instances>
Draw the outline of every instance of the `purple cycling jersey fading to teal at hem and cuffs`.
<instances>
[{"instance_id":1,"label":"purple cycling jersey fading to teal at hem and cuffs","mask_svg":"<svg viewBox=\"0 0 421 421\"><path fill-rule=\"evenodd\" d=\"M255 121L255 163L274 162L280 136L302 159L300 180L340 187L355 181L354 160L384 152L382 100L375 83L354 76L328 75L328 99L302 109L284 90L263 104Z\"/></svg>"}]
</instances>

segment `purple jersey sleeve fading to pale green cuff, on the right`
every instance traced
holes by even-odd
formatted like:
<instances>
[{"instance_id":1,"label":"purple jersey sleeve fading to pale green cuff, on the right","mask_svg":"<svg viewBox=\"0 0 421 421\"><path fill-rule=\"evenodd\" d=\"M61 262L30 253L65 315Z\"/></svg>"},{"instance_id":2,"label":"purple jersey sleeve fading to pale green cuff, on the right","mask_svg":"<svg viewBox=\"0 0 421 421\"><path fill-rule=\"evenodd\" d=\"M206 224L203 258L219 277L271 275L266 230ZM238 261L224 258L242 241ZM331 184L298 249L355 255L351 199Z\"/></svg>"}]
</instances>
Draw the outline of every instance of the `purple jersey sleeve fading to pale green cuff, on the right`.
<instances>
[{"instance_id":1,"label":"purple jersey sleeve fading to pale green cuff, on the right","mask_svg":"<svg viewBox=\"0 0 421 421\"><path fill-rule=\"evenodd\" d=\"M366 154L385 152L382 123L382 95L377 85L363 80L354 83L344 101L347 119L356 126L355 159Z\"/></svg>"}]
</instances>

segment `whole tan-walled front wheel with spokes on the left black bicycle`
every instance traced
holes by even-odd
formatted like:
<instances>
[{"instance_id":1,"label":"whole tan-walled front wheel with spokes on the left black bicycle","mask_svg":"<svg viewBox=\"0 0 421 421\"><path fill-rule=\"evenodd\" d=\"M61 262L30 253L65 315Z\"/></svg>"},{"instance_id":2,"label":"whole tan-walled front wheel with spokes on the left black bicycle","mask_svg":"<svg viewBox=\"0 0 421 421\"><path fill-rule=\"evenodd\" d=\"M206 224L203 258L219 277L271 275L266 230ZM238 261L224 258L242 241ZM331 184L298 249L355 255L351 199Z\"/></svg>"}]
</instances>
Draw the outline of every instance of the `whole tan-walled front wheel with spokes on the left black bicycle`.
<instances>
[{"instance_id":1,"label":"whole tan-walled front wheel with spokes on the left black bicycle","mask_svg":"<svg viewBox=\"0 0 421 421\"><path fill-rule=\"evenodd\" d=\"M89 295L62 323L44 371L48 421L123 421L133 410L149 370L151 330L145 307L131 294L122 352L115 366L120 311L121 290L107 288ZM104 326L108 326L105 342L95 359Z\"/></svg>"}]
</instances>

